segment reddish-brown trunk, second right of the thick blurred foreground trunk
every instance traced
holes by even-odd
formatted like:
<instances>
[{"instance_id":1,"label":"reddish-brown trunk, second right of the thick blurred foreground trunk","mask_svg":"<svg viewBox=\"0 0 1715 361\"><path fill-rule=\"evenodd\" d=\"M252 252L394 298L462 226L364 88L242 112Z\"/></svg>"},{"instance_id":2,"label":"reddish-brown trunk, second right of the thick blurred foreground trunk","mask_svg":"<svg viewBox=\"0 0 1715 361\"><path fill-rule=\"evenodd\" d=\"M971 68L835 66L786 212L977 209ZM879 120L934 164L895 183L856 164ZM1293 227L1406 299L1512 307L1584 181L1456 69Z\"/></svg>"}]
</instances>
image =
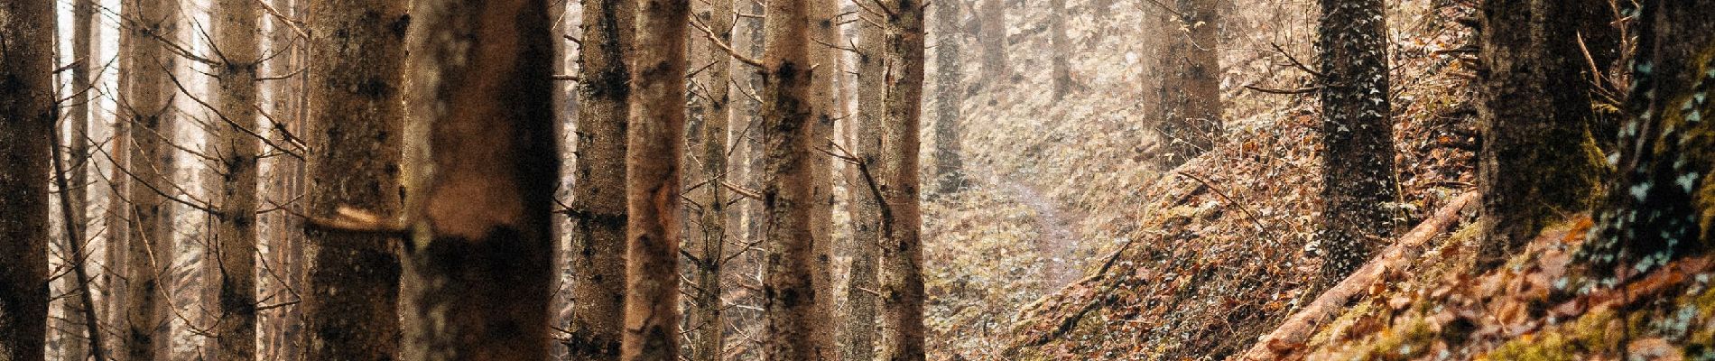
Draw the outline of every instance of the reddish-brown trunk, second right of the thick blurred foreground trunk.
<instances>
[{"instance_id":1,"label":"reddish-brown trunk, second right of the thick blurred foreground trunk","mask_svg":"<svg viewBox=\"0 0 1715 361\"><path fill-rule=\"evenodd\" d=\"M689 0L638 3L626 132L626 361L679 359L679 176Z\"/></svg>"}]
</instances>

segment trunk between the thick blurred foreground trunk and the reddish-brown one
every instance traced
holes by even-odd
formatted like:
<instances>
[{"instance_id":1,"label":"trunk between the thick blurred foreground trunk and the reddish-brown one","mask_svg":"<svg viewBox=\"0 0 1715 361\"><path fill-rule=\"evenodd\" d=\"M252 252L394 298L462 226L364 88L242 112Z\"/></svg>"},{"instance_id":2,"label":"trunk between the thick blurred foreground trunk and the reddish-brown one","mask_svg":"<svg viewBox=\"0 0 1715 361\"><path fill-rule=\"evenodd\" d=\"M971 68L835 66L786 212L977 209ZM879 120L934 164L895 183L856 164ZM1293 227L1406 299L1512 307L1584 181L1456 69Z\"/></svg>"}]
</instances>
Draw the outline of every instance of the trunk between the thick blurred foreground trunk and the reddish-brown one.
<instances>
[{"instance_id":1,"label":"trunk between the thick blurred foreground trunk and the reddish-brown one","mask_svg":"<svg viewBox=\"0 0 1715 361\"><path fill-rule=\"evenodd\" d=\"M571 197L571 359L619 359L626 294L626 125L636 0L583 2Z\"/></svg>"}]
</instances>

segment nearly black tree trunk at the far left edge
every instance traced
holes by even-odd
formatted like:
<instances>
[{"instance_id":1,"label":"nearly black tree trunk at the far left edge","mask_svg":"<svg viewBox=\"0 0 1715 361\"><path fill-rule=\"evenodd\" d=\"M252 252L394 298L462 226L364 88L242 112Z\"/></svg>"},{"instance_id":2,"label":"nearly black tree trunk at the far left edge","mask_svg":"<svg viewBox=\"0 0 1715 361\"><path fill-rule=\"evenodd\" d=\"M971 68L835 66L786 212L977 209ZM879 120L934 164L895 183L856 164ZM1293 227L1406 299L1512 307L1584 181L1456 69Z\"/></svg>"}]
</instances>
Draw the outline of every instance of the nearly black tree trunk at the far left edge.
<instances>
[{"instance_id":1,"label":"nearly black tree trunk at the far left edge","mask_svg":"<svg viewBox=\"0 0 1715 361\"><path fill-rule=\"evenodd\" d=\"M0 5L0 359L46 356L53 2Z\"/></svg>"}]
</instances>

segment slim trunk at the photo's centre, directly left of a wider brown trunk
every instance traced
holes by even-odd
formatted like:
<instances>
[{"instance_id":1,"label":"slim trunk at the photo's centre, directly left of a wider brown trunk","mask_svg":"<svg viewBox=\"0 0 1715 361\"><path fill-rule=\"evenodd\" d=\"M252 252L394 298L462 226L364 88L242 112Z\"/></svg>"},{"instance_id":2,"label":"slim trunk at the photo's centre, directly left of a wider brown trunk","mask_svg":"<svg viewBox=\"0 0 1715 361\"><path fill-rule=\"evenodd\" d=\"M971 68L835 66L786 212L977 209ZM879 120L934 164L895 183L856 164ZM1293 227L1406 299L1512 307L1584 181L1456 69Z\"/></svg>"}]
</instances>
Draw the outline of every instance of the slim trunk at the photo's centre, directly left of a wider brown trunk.
<instances>
[{"instance_id":1,"label":"slim trunk at the photo's centre, directly left of a wider brown trunk","mask_svg":"<svg viewBox=\"0 0 1715 361\"><path fill-rule=\"evenodd\" d=\"M882 120L885 118L883 67L882 67L882 24L878 14L859 12L863 21L858 26L858 118L852 128L852 151L864 168L875 169L882 159ZM854 169L863 173L863 169ZM875 323L876 323L876 258L882 240L882 214L875 193L870 190L870 178L856 176L845 192L851 198L847 212L852 221L852 263L845 277L845 320L840 327L840 356L845 359L875 359Z\"/></svg>"}]
</instances>

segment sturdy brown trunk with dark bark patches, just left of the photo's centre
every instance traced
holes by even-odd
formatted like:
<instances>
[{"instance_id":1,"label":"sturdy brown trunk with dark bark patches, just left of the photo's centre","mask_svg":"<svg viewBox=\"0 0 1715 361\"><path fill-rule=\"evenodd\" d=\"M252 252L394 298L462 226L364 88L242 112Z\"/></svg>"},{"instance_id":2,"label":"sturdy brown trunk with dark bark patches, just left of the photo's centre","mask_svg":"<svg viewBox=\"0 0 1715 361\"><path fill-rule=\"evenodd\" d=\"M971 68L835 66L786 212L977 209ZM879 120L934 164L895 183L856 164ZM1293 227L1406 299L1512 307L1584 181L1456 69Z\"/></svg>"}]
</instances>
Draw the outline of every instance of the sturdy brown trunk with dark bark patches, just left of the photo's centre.
<instances>
[{"instance_id":1,"label":"sturdy brown trunk with dark bark patches, just left of the photo's centre","mask_svg":"<svg viewBox=\"0 0 1715 361\"><path fill-rule=\"evenodd\" d=\"M816 147L820 118L816 104L827 101L818 91L815 60L809 48L816 0L770 0L763 51L763 157L761 198L767 229L767 272L763 274L763 310L767 310L768 359L833 359L828 308L832 294L818 289L816 236ZM820 33L820 31L818 31Z\"/></svg>"}]
</instances>

